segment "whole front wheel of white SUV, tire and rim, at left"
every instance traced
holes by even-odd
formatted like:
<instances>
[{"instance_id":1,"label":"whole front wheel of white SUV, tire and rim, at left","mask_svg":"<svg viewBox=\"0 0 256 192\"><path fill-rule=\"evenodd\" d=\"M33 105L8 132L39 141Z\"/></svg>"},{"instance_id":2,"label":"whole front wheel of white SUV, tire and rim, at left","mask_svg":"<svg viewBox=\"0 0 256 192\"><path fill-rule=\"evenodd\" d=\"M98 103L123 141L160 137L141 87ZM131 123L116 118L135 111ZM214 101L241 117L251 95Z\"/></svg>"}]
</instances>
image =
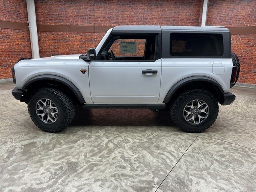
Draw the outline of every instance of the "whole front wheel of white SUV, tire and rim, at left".
<instances>
[{"instance_id":1,"label":"whole front wheel of white SUV, tire and rim, at left","mask_svg":"<svg viewBox=\"0 0 256 192\"><path fill-rule=\"evenodd\" d=\"M28 113L38 128L57 133L72 122L75 108L64 92L54 88L40 88L28 100Z\"/></svg>"}]
</instances>

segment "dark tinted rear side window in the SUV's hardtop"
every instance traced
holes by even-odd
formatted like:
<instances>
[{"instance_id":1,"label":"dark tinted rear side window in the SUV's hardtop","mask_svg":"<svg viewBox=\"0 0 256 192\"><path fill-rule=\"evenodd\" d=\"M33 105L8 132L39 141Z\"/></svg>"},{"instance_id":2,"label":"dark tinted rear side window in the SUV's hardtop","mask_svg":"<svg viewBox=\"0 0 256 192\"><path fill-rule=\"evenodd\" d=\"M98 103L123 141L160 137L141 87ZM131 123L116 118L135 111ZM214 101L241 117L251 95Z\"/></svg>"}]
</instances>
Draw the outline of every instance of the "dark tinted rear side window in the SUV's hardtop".
<instances>
[{"instance_id":1,"label":"dark tinted rear side window in the SUV's hardtop","mask_svg":"<svg viewBox=\"0 0 256 192\"><path fill-rule=\"evenodd\" d=\"M171 33L171 56L222 56L222 34Z\"/></svg>"}]
</instances>

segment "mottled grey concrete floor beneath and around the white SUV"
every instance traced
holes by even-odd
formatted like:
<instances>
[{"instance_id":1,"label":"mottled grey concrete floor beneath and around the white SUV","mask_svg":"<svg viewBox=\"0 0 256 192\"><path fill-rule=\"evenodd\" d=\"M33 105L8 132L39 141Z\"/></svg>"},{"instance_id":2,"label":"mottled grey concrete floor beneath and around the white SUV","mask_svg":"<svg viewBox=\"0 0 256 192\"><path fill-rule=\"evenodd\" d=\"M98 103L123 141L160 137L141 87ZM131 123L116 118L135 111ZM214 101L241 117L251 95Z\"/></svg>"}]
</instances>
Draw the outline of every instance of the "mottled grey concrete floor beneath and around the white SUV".
<instances>
[{"instance_id":1,"label":"mottled grey concrete floor beneath and around the white SUV","mask_svg":"<svg viewBox=\"0 0 256 192\"><path fill-rule=\"evenodd\" d=\"M256 89L235 87L215 124L184 133L168 111L79 110L51 134L0 84L0 191L256 191Z\"/></svg>"}]
</instances>

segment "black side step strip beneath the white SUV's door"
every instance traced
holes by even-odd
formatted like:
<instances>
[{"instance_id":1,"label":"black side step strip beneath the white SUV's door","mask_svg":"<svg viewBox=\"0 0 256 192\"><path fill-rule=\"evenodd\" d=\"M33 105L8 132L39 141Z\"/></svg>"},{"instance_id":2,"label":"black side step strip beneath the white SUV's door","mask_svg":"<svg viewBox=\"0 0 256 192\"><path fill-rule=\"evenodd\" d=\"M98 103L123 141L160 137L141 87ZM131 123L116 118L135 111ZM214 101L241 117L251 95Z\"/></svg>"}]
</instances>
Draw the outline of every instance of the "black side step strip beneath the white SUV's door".
<instances>
[{"instance_id":1,"label":"black side step strip beneath the white SUV's door","mask_svg":"<svg viewBox=\"0 0 256 192\"><path fill-rule=\"evenodd\" d=\"M164 109L165 105L148 105L148 104L137 104L137 105L130 105L130 104L110 104L110 105L97 105L97 104L85 104L82 105L84 109L103 109L103 108L112 108L112 109Z\"/></svg>"}]
</instances>

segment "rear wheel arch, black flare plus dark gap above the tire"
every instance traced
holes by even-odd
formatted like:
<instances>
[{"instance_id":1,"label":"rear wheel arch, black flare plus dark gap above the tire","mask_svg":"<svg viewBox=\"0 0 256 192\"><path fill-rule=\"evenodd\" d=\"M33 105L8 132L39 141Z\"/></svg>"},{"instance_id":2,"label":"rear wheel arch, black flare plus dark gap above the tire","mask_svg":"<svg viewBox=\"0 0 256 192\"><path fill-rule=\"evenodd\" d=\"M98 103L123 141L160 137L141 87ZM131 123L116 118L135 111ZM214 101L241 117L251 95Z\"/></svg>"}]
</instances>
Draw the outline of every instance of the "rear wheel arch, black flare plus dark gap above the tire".
<instances>
[{"instance_id":1,"label":"rear wheel arch, black flare plus dark gap above the tire","mask_svg":"<svg viewBox=\"0 0 256 192\"><path fill-rule=\"evenodd\" d=\"M224 90L222 86L216 80L209 77L205 77L205 76L192 76L192 77L184 78L178 81L176 84L174 84L174 86L172 86L172 88L170 88L170 90L167 92L163 103L170 102L171 98L177 92L179 92L179 90L182 90L182 88L185 88L186 85L191 85L192 83L197 83L197 84L201 83L202 86L211 85L212 88L214 89L213 91L215 92L215 94L218 94L218 97L220 93L224 94ZM208 87L207 89L210 89L210 87Z\"/></svg>"}]
</instances>

